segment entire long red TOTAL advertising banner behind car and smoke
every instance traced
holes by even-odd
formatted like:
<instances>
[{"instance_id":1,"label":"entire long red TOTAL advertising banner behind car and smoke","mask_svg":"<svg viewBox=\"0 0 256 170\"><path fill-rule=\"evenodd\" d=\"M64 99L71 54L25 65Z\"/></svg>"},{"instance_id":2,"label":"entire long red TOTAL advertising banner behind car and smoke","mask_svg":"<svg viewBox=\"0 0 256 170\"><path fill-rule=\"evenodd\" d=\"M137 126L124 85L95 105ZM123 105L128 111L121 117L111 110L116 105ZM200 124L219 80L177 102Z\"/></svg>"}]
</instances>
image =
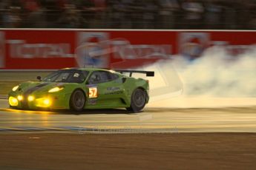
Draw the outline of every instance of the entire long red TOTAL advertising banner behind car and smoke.
<instances>
[{"instance_id":1,"label":"entire long red TOTAL advertising banner behind car and smoke","mask_svg":"<svg viewBox=\"0 0 256 170\"><path fill-rule=\"evenodd\" d=\"M235 55L255 43L254 31L0 30L0 68L131 68L174 55L197 58L214 45Z\"/></svg>"}]
</instances>

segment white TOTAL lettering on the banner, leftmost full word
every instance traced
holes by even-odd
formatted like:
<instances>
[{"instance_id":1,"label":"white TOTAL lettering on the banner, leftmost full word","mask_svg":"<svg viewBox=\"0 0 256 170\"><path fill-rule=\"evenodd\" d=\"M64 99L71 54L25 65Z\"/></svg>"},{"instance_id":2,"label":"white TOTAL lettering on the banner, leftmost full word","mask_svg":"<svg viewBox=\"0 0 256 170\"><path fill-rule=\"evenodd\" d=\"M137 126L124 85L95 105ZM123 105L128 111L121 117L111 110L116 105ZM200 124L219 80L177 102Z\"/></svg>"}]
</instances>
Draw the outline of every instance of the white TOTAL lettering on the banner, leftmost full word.
<instances>
[{"instance_id":1,"label":"white TOTAL lettering on the banner, leftmost full word","mask_svg":"<svg viewBox=\"0 0 256 170\"><path fill-rule=\"evenodd\" d=\"M27 44L24 40L8 40L11 58L73 58L70 44Z\"/></svg>"}]
</instances>

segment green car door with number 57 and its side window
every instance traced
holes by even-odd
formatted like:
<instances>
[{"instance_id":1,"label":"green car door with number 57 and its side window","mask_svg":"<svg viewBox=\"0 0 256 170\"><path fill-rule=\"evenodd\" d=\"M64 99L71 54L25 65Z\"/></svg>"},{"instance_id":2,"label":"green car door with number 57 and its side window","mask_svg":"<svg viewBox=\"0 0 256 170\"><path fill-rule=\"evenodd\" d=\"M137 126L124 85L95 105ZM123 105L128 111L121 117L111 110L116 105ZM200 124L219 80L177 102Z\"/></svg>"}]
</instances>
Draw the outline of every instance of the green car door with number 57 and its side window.
<instances>
[{"instance_id":1,"label":"green car door with number 57 and its side window","mask_svg":"<svg viewBox=\"0 0 256 170\"><path fill-rule=\"evenodd\" d=\"M94 71L86 83L88 86L88 106L114 108L122 106L124 92L122 78L108 71Z\"/></svg>"}]
</instances>

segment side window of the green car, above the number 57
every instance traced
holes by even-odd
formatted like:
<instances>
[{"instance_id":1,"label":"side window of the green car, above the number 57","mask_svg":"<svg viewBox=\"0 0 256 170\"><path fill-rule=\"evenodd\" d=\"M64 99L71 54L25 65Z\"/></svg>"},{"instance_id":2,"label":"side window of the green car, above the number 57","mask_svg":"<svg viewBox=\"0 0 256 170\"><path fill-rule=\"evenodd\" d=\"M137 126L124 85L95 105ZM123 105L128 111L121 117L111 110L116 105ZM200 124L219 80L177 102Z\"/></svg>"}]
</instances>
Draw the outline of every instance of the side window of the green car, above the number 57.
<instances>
[{"instance_id":1,"label":"side window of the green car, above the number 57","mask_svg":"<svg viewBox=\"0 0 256 170\"><path fill-rule=\"evenodd\" d=\"M91 74L91 77L88 80L88 84L100 84L107 81L113 81L118 77L118 75L114 75L111 72L95 71Z\"/></svg>"}]
</instances>

